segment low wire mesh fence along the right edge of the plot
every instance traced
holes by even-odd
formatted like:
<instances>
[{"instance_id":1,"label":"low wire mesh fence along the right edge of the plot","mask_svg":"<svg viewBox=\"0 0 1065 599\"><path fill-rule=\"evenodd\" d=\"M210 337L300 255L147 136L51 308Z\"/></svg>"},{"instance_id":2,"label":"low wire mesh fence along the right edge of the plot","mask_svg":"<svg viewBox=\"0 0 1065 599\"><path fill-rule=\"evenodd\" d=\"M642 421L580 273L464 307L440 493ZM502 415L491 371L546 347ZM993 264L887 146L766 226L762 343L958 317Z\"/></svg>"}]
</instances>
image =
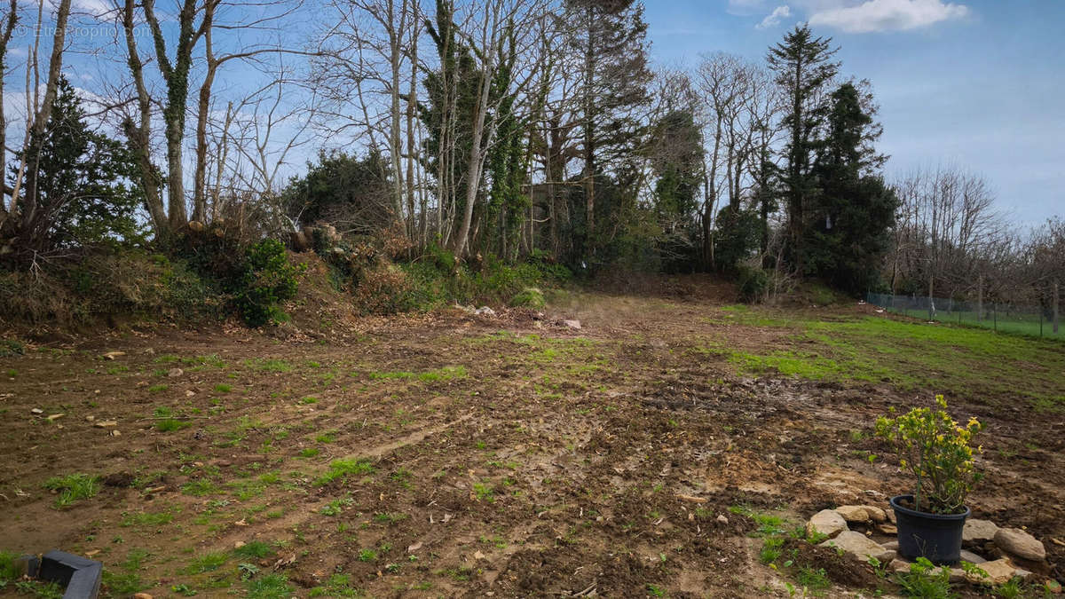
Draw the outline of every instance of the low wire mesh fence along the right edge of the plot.
<instances>
[{"instance_id":1,"label":"low wire mesh fence along the right edge of the plot","mask_svg":"<svg viewBox=\"0 0 1065 599\"><path fill-rule=\"evenodd\" d=\"M866 302L889 312L928 321L990 328L1000 333L1065 340L1065 323L1051 306L1018 306L992 302L958 302L869 293ZM1055 319L1056 317L1056 319Z\"/></svg>"}]
</instances>

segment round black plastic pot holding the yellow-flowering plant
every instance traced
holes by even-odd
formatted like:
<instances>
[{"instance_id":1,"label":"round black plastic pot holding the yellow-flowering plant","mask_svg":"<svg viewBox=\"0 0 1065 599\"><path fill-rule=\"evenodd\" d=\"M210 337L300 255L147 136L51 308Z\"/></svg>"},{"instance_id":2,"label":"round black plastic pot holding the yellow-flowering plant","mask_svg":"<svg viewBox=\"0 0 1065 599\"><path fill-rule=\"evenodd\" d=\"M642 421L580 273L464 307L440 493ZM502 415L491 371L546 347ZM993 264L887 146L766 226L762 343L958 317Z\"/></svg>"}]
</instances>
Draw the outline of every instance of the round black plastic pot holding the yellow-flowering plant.
<instances>
[{"instance_id":1,"label":"round black plastic pot holding the yellow-flowering plant","mask_svg":"<svg viewBox=\"0 0 1065 599\"><path fill-rule=\"evenodd\" d=\"M899 529L899 554L908 560L925 557L937 566L953 566L962 558L962 529L971 511L964 514L929 514L911 509L900 502L914 504L914 496L891 498Z\"/></svg>"}]
</instances>

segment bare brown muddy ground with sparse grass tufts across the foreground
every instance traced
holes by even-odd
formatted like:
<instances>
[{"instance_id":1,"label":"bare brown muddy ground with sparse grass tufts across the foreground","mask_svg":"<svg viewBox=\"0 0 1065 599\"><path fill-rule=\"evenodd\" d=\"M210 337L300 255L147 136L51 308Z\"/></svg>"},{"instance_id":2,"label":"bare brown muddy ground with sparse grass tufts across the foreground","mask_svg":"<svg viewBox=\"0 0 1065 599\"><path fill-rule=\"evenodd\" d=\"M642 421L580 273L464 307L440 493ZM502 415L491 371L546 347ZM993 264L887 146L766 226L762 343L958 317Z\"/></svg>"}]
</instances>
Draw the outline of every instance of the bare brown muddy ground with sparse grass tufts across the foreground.
<instances>
[{"instance_id":1,"label":"bare brown muddy ground with sparse grass tufts across the foreground","mask_svg":"<svg viewBox=\"0 0 1065 599\"><path fill-rule=\"evenodd\" d=\"M750 515L886 507L906 481L868 459L872 424L934 390L741 374L705 339L796 341L712 324L721 295L39 342L0 358L0 549L92 555L116 597L787 597L802 564L830 597L892 593L808 545L763 565ZM987 424L973 516L1026 527L1049 556L1026 567L1065 579L1065 416L952 410ZM44 485L71 473L100 489L56 508Z\"/></svg>"}]
</instances>

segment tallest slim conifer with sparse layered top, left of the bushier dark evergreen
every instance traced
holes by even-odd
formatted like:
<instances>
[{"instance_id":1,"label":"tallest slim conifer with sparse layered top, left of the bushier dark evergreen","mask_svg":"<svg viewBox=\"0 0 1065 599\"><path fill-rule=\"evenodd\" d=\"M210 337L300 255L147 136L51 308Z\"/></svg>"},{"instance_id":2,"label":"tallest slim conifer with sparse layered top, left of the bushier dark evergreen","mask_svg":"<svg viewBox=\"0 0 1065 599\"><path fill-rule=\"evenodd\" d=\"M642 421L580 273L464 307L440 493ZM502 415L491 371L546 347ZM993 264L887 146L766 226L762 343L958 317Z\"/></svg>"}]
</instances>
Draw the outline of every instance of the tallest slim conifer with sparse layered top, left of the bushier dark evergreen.
<instances>
[{"instance_id":1,"label":"tallest slim conifer with sparse layered top, left of the bushier dark evergreen","mask_svg":"<svg viewBox=\"0 0 1065 599\"><path fill-rule=\"evenodd\" d=\"M832 62L836 50L830 48L832 38L814 37L803 23L787 33L783 43L770 48L767 56L788 100L783 125L789 135L780 181L787 200L788 257L800 271L804 259L805 208L817 193L813 158L829 110L823 96L839 70L839 63Z\"/></svg>"}]
</instances>

